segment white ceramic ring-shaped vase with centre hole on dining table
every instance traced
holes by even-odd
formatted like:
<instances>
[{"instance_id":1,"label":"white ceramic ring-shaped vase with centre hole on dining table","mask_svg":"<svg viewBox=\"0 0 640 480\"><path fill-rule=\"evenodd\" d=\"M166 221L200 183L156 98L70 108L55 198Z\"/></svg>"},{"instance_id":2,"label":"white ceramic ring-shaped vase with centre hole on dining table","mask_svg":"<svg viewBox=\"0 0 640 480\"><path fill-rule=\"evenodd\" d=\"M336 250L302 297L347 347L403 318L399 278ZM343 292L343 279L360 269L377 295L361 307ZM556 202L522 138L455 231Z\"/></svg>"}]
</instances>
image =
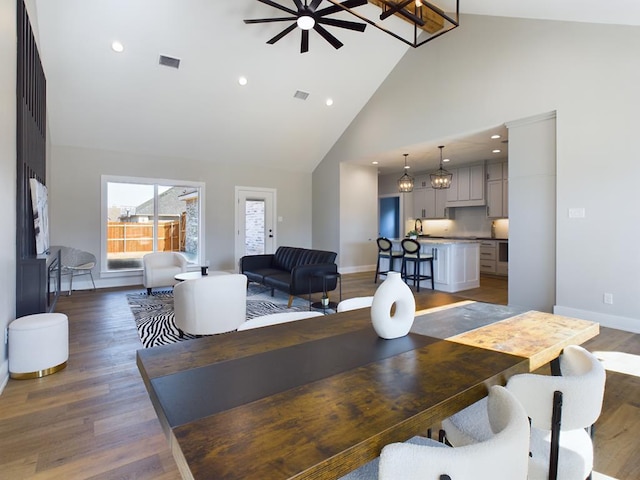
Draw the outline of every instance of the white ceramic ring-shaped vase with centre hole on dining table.
<instances>
[{"instance_id":1,"label":"white ceramic ring-shaped vase with centre hole on dining table","mask_svg":"<svg viewBox=\"0 0 640 480\"><path fill-rule=\"evenodd\" d=\"M391 315L391 307L395 312ZM387 278L376 290L371 304L371 323L379 337L390 340L404 337L416 314L416 300L413 292L402 281L400 273L389 272Z\"/></svg>"}]
</instances>

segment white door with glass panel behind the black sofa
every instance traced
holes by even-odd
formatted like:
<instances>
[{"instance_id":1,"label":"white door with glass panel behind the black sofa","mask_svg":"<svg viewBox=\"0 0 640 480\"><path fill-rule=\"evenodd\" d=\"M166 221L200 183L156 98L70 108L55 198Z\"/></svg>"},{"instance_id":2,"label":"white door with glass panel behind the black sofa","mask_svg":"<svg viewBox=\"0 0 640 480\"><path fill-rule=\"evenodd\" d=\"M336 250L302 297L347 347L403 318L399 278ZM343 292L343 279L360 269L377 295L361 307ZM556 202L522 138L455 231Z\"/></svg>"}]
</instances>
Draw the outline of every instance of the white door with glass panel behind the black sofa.
<instances>
[{"instance_id":1,"label":"white door with glass panel behind the black sofa","mask_svg":"<svg viewBox=\"0 0 640 480\"><path fill-rule=\"evenodd\" d=\"M236 187L236 265L275 251L275 197L273 189Z\"/></svg>"}]
</instances>

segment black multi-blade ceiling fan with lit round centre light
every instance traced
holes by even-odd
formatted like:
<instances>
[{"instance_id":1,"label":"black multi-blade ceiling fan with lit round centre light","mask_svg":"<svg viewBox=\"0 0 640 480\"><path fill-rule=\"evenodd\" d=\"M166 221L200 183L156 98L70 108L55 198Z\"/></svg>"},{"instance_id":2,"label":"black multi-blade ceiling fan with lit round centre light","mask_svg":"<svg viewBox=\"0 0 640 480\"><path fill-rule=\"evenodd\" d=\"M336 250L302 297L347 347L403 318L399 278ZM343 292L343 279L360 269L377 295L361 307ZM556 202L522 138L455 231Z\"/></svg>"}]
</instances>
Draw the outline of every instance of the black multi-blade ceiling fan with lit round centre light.
<instances>
[{"instance_id":1,"label":"black multi-blade ceiling fan with lit round centre light","mask_svg":"<svg viewBox=\"0 0 640 480\"><path fill-rule=\"evenodd\" d=\"M356 30L358 32L364 32L365 27L367 26L365 23L358 22L349 22L346 20L339 20L335 18L326 18L327 15L331 15L332 13L337 13L342 10L341 6L345 8L355 8L361 5L366 5L367 0L345 0L341 2L340 5L331 5L330 7L323 8L318 10L318 6L322 3L322 0L311 0L311 2L307 2L304 0L304 3L301 0L293 0L295 4L296 10L285 7L284 5L280 5L272 0L258 0L261 3L269 5L273 8L277 8L278 10L282 10L283 12L287 12L291 14L290 17L276 17L276 18L258 18L258 19L250 19L245 20L244 23L270 23L270 22L293 22L287 28L285 28L278 35L268 40L267 43L273 45L278 40L283 38L285 35L291 33L295 30L296 27L299 27L302 30L302 40L300 42L300 53L305 53L309 51L309 30L313 29L318 34L324 38L327 42L329 42L335 49L342 47L343 43L334 37L329 31L327 31L322 25L330 25L332 27L340 27L346 28L349 30Z\"/></svg>"}]
</instances>

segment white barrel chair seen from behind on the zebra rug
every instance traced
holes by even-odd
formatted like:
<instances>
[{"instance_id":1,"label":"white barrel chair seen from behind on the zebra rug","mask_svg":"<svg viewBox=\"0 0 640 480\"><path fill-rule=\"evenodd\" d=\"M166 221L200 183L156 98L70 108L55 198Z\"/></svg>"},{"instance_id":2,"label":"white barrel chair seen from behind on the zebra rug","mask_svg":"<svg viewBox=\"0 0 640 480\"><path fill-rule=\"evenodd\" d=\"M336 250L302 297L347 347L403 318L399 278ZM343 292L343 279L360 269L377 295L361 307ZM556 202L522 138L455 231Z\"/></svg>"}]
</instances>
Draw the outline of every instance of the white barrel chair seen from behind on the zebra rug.
<instances>
[{"instance_id":1,"label":"white barrel chair seen from behind on the zebra rug","mask_svg":"<svg viewBox=\"0 0 640 480\"><path fill-rule=\"evenodd\" d=\"M247 277L234 273L180 282L173 288L173 308L180 337L234 331L247 317Z\"/></svg>"}]
</instances>

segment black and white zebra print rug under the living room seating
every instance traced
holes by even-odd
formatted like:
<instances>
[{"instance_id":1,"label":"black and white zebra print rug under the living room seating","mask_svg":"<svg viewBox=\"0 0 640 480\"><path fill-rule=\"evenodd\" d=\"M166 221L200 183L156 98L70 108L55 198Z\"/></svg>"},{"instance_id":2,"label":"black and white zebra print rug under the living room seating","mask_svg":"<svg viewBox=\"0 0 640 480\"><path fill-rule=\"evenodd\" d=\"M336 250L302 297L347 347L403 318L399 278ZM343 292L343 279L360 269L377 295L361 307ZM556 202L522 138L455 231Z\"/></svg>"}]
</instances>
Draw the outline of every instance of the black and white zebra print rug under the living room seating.
<instances>
[{"instance_id":1,"label":"black and white zebra print rug under the living room seating","mask_svg":"<svg viewBox=\"0 0 640 480\"><path fill-rule=\"evenodd\" d=\"M291 308L287 308L288 300L288 295L282 292L276 291L272 297L270 289L251 283L247 291L247 320L270 313L309 309L308 303L298 297ZM180 338L178 334L173 318L173 290L154 291L151 295L131 293L127 295L127 301L145 348L196 338L188 333Z\"/></svg>"}]
</instances>

